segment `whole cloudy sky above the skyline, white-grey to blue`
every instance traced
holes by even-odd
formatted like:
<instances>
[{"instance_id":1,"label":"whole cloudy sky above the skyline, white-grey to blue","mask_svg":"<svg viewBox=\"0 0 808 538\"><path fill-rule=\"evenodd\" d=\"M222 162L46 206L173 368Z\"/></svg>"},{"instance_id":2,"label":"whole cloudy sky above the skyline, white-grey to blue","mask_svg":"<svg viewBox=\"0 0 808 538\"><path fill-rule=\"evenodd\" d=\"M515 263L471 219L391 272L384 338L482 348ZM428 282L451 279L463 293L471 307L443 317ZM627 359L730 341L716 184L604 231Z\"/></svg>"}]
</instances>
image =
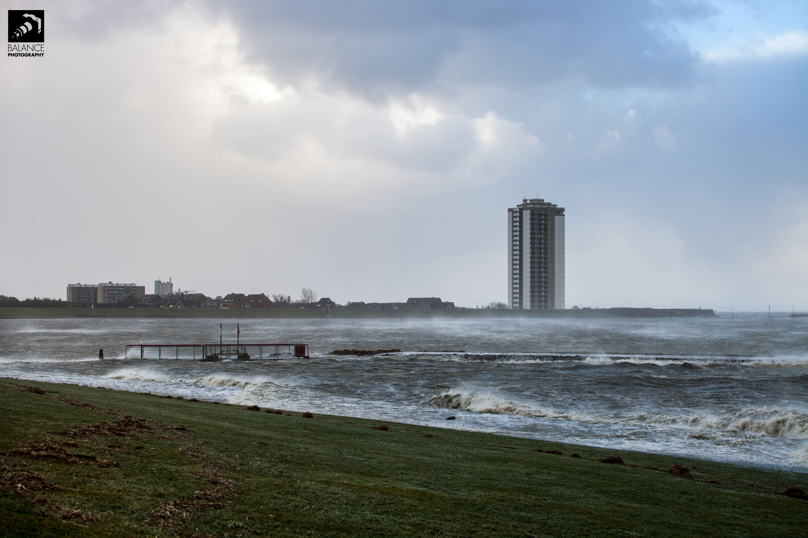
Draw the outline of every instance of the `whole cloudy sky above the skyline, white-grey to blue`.
<instances>
[{"instance_id":1,"label":"whole cloudy sky above the skyline, white-grey to blue","mask_svg":"<svg viewBox=\"0 0 808 538\"><path fill-rule=\"evenodd\" d=\"M32 7L0 2L6 9ZM36 2L0 60L0 294L808 310L808 2Z\"/></svg>"}]
</instances>

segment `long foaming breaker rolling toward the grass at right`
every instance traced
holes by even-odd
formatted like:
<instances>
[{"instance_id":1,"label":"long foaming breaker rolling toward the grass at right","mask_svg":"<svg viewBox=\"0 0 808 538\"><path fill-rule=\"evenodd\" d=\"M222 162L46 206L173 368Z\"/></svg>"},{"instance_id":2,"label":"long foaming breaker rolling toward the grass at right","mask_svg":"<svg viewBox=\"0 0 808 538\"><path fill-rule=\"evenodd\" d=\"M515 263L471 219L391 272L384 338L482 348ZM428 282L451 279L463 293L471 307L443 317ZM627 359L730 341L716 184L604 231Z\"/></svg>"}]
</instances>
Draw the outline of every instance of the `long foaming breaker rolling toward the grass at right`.
<instances>
[{"instance_id":1,"label":"long foaming breaker rolling toward the grass at right","mask_svg":"<svg viewBox=\"0 0 808 538\"><path fill-rule=\"evenodd\" d=\"M491 394L448 393L427 400L427 405L494 415L568 419L586 423L612 423L638 426L688 427L700 431L743 436L808 439L808 415L799 411L746 408L724 415L673 415L649 412L632 415L588 415L577 411L554 411L511 402ZM712 439L711 436L696 437Z\"/></svg>"}]
</instances>

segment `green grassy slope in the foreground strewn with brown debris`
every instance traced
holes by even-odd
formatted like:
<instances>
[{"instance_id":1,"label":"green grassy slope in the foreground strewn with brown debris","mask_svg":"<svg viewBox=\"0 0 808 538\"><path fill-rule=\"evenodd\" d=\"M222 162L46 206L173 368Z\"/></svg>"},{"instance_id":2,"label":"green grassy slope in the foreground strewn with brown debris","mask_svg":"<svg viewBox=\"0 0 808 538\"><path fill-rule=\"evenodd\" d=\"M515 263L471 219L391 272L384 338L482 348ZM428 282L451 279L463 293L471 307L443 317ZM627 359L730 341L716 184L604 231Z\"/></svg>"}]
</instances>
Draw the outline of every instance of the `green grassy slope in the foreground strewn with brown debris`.
<instances>
[{"instance_id":1,"label":"green grassy slope in the foreground strewn with brown debris","mask_svg":"<svg viewBox=\"0 0 808 538\"><path fill-rule=\"evenodd\" d=\"M808 473L15 379L0 378L0 408L0 536L808 528L808 500L782 494L808 489ZM625 465L599 461L606 456ZM674 464L689 477L667 472Z\"/></svg>"}]
</instances>

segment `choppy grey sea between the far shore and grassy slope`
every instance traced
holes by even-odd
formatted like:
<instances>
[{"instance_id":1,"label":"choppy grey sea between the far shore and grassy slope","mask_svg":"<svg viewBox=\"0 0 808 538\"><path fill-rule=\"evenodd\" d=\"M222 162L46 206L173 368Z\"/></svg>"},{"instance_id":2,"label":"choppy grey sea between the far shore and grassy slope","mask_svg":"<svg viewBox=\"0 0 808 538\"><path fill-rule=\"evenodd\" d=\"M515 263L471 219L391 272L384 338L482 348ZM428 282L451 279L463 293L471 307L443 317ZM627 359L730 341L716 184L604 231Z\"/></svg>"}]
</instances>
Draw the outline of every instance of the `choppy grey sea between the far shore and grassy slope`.
<instances>
[{"instance_id":1,"label":"choppy grey sea between the far shore and grassy slope","mask_svg":"<svg viewBox=\"0 0 808 538\"><path fill-rule=\"evenodd\" d=\"M311 358L124 358L220 322L2 320L0 376L808 470L808 319L247 319Z\"/></svg>"}]
</instances>

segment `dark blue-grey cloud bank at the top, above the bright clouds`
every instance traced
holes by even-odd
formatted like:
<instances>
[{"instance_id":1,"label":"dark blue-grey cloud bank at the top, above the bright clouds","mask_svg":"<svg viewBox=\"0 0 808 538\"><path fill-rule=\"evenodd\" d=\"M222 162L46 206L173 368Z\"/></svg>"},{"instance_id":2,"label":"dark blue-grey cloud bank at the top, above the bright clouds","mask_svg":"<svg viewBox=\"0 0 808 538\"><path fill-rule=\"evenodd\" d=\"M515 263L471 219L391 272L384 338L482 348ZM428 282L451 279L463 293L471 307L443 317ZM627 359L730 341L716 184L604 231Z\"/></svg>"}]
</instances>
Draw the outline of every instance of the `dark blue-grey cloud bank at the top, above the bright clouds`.
<instances>
[{"instance_id":1,"label":"dark blue-grey cloud bank at the top, above the bright clouds","mask_svg":"<svg viewBox=\"0 0 808 538\"><path fill-rule=\"evenodd\" d=\"M671 24L702 2L233 2L228 13L276 80L325 77L364 95L457 85L681 87L697 56Z\"/></svg>"}]
</instances>

